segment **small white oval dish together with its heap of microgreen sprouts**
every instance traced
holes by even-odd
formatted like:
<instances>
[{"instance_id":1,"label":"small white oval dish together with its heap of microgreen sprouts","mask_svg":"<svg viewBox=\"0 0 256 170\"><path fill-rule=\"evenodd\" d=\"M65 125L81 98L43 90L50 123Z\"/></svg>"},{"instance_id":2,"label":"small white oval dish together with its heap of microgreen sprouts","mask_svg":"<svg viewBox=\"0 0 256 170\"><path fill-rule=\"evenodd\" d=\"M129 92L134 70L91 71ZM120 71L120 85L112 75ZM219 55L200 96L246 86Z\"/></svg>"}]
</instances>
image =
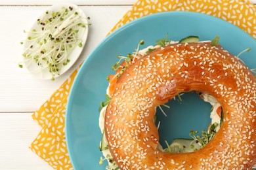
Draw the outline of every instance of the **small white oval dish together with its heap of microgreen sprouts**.
<instances>
[{"instance_id":1,"label":"small white oval dish together with its heap of microgreen sprouts","mask_svg":"<svg viewBox=\"0 0 256 170\"><path fill-rule=\"evenodd\" d=\"M38 78L54 80L75 63L89 24L83 10L64 3L47 9L32 25L24 44L24 65ZM20 67L22 65L20 64Z\"/></svg>"}]
</instances>

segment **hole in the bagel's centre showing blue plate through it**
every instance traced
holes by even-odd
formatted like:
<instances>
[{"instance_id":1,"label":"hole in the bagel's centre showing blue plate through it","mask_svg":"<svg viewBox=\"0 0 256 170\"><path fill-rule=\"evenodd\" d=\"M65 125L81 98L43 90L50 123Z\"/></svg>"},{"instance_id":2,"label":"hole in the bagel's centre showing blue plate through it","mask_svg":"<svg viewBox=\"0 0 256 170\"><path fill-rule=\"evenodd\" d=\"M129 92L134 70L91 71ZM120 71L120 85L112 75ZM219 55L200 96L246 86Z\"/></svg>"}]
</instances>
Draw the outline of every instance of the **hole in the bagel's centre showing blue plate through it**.
<instances>
[{"instance_id":1,"label":"hole in the bagel's centre showing blue plate through it","mask_svg":"<svg viewBox=\"0 0 256 170\"><path fill-rule=\"evenodd\" d=\"M202 131L207 131L211 124L210 113L213 106L203 101L196 92L182 93L181 100L176 96L165 105L169 108L160 105L161 108L156 110L156 126L159 126L160 144L163 148L167 148L167 144L175 139L192 139L192 130L198 131L196 136L202 136Z\"/></svg>"}]
</instances>

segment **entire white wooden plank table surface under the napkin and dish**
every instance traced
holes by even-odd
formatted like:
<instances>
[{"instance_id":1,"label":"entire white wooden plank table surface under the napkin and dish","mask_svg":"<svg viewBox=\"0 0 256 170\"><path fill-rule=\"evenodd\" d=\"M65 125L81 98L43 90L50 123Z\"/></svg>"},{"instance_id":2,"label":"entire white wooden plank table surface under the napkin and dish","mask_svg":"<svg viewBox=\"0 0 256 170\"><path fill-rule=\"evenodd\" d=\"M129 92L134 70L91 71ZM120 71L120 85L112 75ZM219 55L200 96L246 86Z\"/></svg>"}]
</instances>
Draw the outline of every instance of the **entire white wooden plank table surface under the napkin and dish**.
<instances>
[{"instance_id":1,"label":"entire white wooden plank table surface under the napkin and dish","mask_svg":"<svg viewBox=\"0 0 256 170\"><path fill-rule=\"evenodd\" d=\"M64 75L39 80L20 69L23 30L50 5L74 3L90 16L89 37L81 56ZM104 39L108 31L121 19L135 0L0 0L0 169L52 169L28 148L41 127L32 120L39 109L75 68ZM256 0L253 0L256 4Z\"/></svg>"}]
</instances>

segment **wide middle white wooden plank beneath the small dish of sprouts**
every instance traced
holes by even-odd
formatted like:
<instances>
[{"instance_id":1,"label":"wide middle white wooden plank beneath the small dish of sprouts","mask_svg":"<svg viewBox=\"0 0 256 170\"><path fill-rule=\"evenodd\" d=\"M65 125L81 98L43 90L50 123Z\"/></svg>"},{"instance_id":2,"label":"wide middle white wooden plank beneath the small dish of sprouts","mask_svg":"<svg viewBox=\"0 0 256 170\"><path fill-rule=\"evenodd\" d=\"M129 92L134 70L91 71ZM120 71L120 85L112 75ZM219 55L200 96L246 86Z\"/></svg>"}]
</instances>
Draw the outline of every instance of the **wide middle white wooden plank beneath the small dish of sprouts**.
<instances>
[{"instance_id":1,"label":"wide middle white wooden plank beneath the small dish of sprouts","mask_svg":"<svg viewBox=\"0 0 256 170\"><path fill-rule=\"evenodd\" d=\"M87 44L75 65L64 75L51 80L40 80L20 69L18 61L22 60L22 45L25 39L23 30L30 29L47 7L0 7L0 112L32 112L68 78L69 75L87 58L95 46L129 10L129 6L89 6L81 7L90 16L92 25L89 29Z\"/></svg>"}]
</instances>

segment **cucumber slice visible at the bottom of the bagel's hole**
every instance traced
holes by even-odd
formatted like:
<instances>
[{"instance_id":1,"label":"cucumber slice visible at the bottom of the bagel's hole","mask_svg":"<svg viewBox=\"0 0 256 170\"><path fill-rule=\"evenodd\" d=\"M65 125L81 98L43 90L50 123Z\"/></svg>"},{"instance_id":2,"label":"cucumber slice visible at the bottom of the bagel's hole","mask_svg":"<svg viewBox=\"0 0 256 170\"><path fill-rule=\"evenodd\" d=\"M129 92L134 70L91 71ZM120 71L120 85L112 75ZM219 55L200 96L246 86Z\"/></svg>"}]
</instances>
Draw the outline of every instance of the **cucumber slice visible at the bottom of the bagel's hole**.
<instances>
[{"instance_id":1,"label":"cucumber slice visible at the bottom of the bagel's hole","mask_svg":"<svg viewBox=\"0 0 256 170\"><path fill-rule=\"evenodd\" d=\"M200 150L200 148L201 146L193 139L174 139L166 151L171 153L188 153Z\"/></svg>"}]
</instances>

